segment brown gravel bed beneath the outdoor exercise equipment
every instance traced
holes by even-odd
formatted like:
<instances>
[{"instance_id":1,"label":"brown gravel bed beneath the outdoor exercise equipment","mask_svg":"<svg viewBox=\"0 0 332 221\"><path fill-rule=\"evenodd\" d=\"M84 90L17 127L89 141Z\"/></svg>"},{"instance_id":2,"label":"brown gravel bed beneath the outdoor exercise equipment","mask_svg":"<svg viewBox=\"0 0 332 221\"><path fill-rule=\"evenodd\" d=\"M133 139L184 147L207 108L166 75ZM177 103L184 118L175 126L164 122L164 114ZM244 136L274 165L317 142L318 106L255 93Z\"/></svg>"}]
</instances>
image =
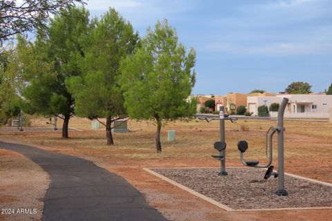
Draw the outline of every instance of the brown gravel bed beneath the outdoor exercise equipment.
<instances>
[{"instance_id":1,"label":"brown gravel bed beneath the outdoor exercise equipment","mask_svg":"<svg viewBox=\"0 0 332 221\"><path fill-rule=\"evenodd\" d=\"M287 196L278 196L277 179L264 180L265 170L152 169L179 184L212 198L232 209L277 209L332 206L332 187L285 175Z\"/></svg>"}]
</instances>

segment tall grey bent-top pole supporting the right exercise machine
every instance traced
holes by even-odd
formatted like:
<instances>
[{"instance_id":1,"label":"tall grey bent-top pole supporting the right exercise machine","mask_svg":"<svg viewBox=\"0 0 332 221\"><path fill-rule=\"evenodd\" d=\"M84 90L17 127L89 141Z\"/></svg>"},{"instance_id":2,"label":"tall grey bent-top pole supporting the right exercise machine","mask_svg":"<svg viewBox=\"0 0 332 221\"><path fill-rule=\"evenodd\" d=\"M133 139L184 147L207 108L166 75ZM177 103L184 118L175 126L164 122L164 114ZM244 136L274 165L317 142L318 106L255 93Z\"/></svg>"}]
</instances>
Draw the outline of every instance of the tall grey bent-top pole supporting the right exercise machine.
<instances>
[{"instance_id":1,"label":"tall grey bent-top pole supporting the right exercise machine","mask_svg":"<svg viewBox=\"0 0 332 221\"><path fill-rule=\"evenodd\" d=\"M277 195L288 195L285 190L285 180L284 180L284 112L286 106L288 104L289 99L284 97L282 99L282 104L279 106L278 111L278 190L276 192Z\"/></svg>"}]
</instances>

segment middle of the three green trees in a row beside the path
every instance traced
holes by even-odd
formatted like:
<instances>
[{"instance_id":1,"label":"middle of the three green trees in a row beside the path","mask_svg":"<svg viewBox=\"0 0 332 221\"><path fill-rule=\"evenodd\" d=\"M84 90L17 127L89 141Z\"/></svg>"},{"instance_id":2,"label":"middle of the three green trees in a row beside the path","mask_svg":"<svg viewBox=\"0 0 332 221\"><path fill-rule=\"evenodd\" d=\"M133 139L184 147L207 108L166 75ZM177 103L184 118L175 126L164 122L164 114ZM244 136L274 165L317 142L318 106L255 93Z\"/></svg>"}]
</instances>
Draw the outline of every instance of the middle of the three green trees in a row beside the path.
<instances>
[{"instance_id":1,"label":"middle of the three green trees in a row beside the path","mask_svg":"<svg viewBox=\"0 0 332 221\"><path fill-rule=\"evenodd\" d=\"M138 34L118 12L110 9L100 20L94 19L89 46L79 63L82 75L66 81L75 97L75 113L97 119L106 117L107 144L113 144L111 123L127 117L119 85L120 61L130 55L138 43Z\"/></svg>"}]
</instances>

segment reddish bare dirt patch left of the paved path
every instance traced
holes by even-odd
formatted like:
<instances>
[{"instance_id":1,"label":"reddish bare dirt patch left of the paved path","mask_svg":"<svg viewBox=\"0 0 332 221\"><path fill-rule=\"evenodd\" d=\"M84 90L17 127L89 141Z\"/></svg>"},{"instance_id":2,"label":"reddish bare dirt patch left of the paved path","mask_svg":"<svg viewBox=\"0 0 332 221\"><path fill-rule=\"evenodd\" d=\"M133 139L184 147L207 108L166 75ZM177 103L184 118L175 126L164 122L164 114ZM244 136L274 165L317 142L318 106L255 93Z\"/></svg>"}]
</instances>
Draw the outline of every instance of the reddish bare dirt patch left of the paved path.
<instances>
[{"instance_id":1,"label":"reddish bare dirt patch left of the paved path","mask_svg":"<svg viewBox=\"0 0 332 221\"><path fill-rule=\"evenodd\" d=\"M0 220L41 220L48 175L23 155L0 147Z\"/></svg>"}]
</instances>

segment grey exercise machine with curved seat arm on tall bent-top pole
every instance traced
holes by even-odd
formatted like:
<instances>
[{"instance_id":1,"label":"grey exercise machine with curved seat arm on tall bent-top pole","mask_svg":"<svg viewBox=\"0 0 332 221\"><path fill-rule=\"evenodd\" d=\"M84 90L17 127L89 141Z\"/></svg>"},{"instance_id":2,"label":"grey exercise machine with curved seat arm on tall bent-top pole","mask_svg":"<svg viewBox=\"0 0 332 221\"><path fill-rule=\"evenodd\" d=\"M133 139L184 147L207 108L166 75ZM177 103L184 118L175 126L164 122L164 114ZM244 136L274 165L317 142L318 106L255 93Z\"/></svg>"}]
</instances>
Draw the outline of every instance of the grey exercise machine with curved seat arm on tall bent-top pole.
<instances>
[{"instance_id":1,"label":"grey exercise machine with curved seat arm on tall bent-top pole","mask_svg":"<svg viewBox=\"0 0 332 221\"><path fill-rule=\"evenodd\" d=\"M237 148L239 149L240 156L241 156L241 162L245 166L251 166L251 167L259 167L259 168L266 168L268 167L268 170L266 171L264 175L264 179L268 179L271 175L273 175L275 178L278 177L278 190L276 192L277 195L288 195L287 191L285 190L284 186L284 112L285 108L288 104L288 100L286 97L282 99L282 104L279 106L278 110L278 117L277 117L277 126L271 126L268 131L266 132L266 157L268 158L267 164L259 164L258 160L250 160L245 161L243 153L246 152L248 149L248 142L245 140L241 140L237 144ZM274 166L271 166L273 161L273 135L277 133L278 139L278 171L273 171Z\"/></svg>"}]
</instances>

